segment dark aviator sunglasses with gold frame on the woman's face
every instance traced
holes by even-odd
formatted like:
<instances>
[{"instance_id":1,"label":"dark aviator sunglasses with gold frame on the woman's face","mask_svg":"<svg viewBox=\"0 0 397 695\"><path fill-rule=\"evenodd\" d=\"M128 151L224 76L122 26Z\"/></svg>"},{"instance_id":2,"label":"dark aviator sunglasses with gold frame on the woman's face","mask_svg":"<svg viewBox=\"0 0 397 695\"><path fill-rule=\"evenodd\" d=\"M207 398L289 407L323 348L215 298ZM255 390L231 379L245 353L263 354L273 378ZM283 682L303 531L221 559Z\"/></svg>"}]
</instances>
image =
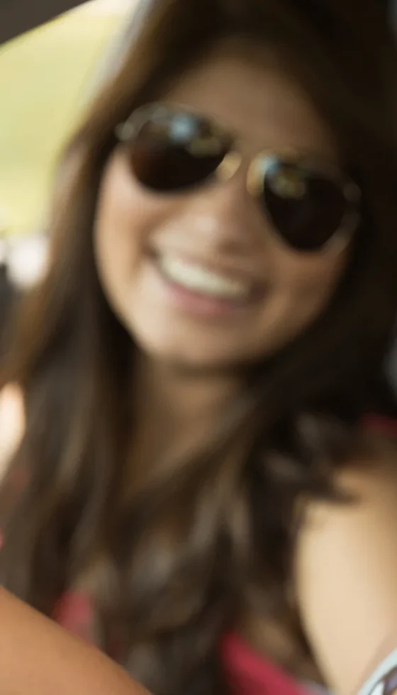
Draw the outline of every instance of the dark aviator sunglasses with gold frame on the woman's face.
<instances>
[{"instance_id":1,"label":"dark aviator sunglasses with gold frame on the woman's face","mask_svg":"<svg viewBox=\"0 0 397 695\"><path fill-rule=\"evenodd\" d=\"M143 106L116 128L116 137L135 179L160 195L226 182L243 162L233 133L184 106ZM304 152L260 152L250 162L247 190L272 231L299 252L345 245L359 223L357 184Z\"/></svg>"}]
</instances>

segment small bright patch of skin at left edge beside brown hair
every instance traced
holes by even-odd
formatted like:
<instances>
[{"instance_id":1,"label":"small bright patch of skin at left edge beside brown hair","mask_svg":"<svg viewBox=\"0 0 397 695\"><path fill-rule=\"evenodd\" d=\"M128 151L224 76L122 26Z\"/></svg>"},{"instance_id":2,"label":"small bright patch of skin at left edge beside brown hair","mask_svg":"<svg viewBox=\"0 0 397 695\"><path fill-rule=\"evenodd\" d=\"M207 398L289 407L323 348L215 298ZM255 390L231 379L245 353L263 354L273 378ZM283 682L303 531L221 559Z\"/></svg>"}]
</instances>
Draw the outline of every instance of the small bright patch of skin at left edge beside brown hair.
<instances>
[{"instance_id":1,"label":"small bright patch of skin at left edge beside brown hair","mask_svg":"<svg viewBox=\"0 0 397 695\"><path fill-rule=\"evenodd\" d=\"M0 391L0 480L21 443L24 430L23 394L16 384L9 384Z\"/></svg>"}]
</instances>

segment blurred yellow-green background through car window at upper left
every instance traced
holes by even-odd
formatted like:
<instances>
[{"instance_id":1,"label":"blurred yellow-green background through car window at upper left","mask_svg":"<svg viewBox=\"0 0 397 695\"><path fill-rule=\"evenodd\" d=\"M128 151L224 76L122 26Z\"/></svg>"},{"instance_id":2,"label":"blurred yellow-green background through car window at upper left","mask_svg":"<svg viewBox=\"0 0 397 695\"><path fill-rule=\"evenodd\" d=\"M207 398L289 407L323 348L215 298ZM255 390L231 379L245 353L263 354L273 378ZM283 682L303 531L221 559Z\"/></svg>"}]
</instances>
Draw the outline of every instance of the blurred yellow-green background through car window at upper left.
<instances>
[{"instance_id":1,"label":"blurred yellow-green background through car window at upper left","mask_svg":"<svg viewBox=\"0 0 397 695\"><path fill-rule=\"evenodd\" d=\"M0 51L0 234L45 221L55 163L133 0L91 0Z\"/></svg>"}]
</instances>

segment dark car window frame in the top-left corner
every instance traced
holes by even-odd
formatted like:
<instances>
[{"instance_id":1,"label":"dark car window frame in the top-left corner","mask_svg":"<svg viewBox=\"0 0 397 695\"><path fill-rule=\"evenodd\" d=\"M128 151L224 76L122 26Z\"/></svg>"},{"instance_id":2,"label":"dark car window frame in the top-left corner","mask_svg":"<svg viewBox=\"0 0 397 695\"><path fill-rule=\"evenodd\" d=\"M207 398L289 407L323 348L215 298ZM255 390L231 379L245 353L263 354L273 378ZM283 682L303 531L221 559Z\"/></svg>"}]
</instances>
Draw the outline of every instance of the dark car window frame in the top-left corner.
<instances>
[{"instance_id":1,"label":"dark car window frame in the top-left corner","mask_svg":"<svg viewBox=\"0 0 397 695\"><path fill-rule=\"evenodd\" d=\"M0 0L0 44L50 21L84 0Z\"/></svg>"}]
</instances>

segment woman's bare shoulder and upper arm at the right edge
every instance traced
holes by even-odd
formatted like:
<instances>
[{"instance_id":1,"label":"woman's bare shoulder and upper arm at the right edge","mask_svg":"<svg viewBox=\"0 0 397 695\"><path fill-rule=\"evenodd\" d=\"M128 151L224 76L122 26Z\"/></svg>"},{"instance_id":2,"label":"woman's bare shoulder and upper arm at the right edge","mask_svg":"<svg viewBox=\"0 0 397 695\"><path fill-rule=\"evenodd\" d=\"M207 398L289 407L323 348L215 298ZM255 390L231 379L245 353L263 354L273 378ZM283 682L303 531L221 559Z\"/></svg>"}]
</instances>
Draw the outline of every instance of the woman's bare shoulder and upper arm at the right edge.
<instances>
[{"instance_id":1,"label":"woman's bare shoulder and upper arm at the right edge","mask_svg":"<svg viewBox=\"0 0 397 695\"><path fill-rule=\"evenodd\" d=\"M325 679L353 695L397 646L397 445L374 438L336 482L351 501L306 506L296 584Z\"/></svg>"}]
</instances>

